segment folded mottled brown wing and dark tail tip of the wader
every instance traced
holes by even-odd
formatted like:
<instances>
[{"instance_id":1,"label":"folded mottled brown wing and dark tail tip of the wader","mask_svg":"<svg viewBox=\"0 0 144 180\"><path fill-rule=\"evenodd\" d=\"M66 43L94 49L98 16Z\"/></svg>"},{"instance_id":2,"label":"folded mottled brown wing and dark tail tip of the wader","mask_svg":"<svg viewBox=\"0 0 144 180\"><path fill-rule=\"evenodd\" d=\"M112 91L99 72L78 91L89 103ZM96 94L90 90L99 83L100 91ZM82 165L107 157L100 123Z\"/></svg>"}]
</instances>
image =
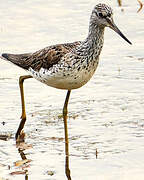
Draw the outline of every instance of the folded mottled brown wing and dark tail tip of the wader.
<instances>
[{"instance_id":1,"label":"folded mottled brown wing and dark tail tip of the wader","mask_svg":"<svg viewBox=\"0 0 144 180\"><path fill-rule=\"evenodd\" d=\"M2 54L2 56L23 69L28 70L31 67L33 70L39 71L41 67L49 69L54 64L57 64L62 56L76 48L80 43L80 41L77 41L74 43L57 44L31 54Z\"/></svg>"}]
</instances>

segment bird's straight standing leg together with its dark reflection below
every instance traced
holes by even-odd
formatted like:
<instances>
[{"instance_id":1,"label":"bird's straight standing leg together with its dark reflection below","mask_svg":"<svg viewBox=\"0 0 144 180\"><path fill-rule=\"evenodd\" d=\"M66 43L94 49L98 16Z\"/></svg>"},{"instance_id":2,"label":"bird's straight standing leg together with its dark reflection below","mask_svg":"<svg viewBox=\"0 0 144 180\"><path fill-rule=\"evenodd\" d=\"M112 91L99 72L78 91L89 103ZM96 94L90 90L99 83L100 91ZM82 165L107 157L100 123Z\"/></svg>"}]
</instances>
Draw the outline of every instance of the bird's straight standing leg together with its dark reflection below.
<instances>
[{"instance_id":1,"label":"bird's straight standing leg together with its dark reflection below","mask_svg":"<svg viewBox=\"0 0 144 180\"><path fill-rule=\"evenodd\" d=\"M64 107L63 107L64 132L65 132L65 155L66 155L65 173L66 173L68 180L71 180L70 169L69 169L69 141L68 141L68 128L67 128L67 112L68 112L67 106L68 106L70 93L71 93L71 91L68 90L66 99L65 99L65 103L64 103Z\"/></svg>"}]
</instances>

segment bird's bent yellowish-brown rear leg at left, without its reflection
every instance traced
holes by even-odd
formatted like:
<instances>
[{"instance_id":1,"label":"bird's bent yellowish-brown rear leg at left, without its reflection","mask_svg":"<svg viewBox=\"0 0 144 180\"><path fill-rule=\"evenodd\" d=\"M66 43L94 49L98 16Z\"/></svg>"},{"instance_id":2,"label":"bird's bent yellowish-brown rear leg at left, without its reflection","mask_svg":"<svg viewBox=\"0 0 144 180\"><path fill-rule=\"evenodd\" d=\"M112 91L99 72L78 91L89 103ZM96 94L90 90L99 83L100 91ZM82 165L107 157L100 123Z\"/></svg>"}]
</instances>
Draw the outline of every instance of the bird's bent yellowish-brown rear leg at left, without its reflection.
<instances>
[{"instance_id":1,"label":"bird's bent yellowish-brown rear leg at left, without its reflection","mask_svg":"<svg viewBox=\"0 0 144 180\"><path fill-rule=\"evenodd\" d=\"M25 79L32 78L30 75L26 76L20 76L19 78L19 87L20 87L20 95L21 95L21 105L22 105L22 115L21 115L21 122L19 124L18 130L16 132L15 138L17 139L18 136L21 133L21 130L24 127L24 124L26 122L26 111L25 111L25 100L24 100L24 89L23 89L23 83Z\"/></svg>"}]
</instances>

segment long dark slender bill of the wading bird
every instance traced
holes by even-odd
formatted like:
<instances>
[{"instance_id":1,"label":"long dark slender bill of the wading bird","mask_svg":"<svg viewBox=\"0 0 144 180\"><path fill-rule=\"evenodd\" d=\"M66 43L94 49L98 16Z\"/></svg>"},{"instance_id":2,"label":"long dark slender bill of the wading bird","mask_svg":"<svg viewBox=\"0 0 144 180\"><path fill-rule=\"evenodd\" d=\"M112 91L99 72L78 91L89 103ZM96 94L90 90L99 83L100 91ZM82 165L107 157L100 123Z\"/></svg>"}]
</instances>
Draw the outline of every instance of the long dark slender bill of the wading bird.
<instances>
[{"instance_id":1,"label":"long dark slender bill of the wading bird","mask_svg":"<svg viewBox=\"0 0 144 180\"><path fill-rule=\"evenodd\" d=\"M113 29L116 33L118 33L125 41L127 41L129 44L132 44L125 35L119 30L119 28L115 25L112 19L107 18L107 22L110 25L109 27Z\"/></svg>"}]
</instances>

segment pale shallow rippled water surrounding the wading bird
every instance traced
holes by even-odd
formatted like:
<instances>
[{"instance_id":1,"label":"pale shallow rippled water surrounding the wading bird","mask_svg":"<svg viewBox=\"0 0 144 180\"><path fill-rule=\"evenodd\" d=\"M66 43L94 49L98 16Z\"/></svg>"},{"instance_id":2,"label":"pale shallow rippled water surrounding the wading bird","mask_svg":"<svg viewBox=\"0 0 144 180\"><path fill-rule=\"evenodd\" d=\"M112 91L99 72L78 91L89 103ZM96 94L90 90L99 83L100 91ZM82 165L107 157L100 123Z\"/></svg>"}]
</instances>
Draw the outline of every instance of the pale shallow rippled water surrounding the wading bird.
<instances>
[{"instance_id":1,"label":"pale shallow rippled water surrounding the wading bird","mask_svg":"<svg viewBox=\"0 0 144 180\"><path fill-rule=\"evenodd\" d=\"M0 53L34 52L51 44L83 40L97 2L0 0ZM143 10L137 13L136 0L123 1L121 8L116 0L107 2L114 9L116 24L133 45L107 28L97 72L71 94L68 127L74 180L144 178L144 14ZM24 74L24 70L1 60L0 134L12 137L0 140L0 179L66 179L61 119L66 91L34 79L24 83L24 130L26 143L32 146L24 153L32 161L28 167L14 165L21 160L14 134L21 115L18 78ZM25 170L27 176L10 174Z\"/></svg>"}]
</instances>

